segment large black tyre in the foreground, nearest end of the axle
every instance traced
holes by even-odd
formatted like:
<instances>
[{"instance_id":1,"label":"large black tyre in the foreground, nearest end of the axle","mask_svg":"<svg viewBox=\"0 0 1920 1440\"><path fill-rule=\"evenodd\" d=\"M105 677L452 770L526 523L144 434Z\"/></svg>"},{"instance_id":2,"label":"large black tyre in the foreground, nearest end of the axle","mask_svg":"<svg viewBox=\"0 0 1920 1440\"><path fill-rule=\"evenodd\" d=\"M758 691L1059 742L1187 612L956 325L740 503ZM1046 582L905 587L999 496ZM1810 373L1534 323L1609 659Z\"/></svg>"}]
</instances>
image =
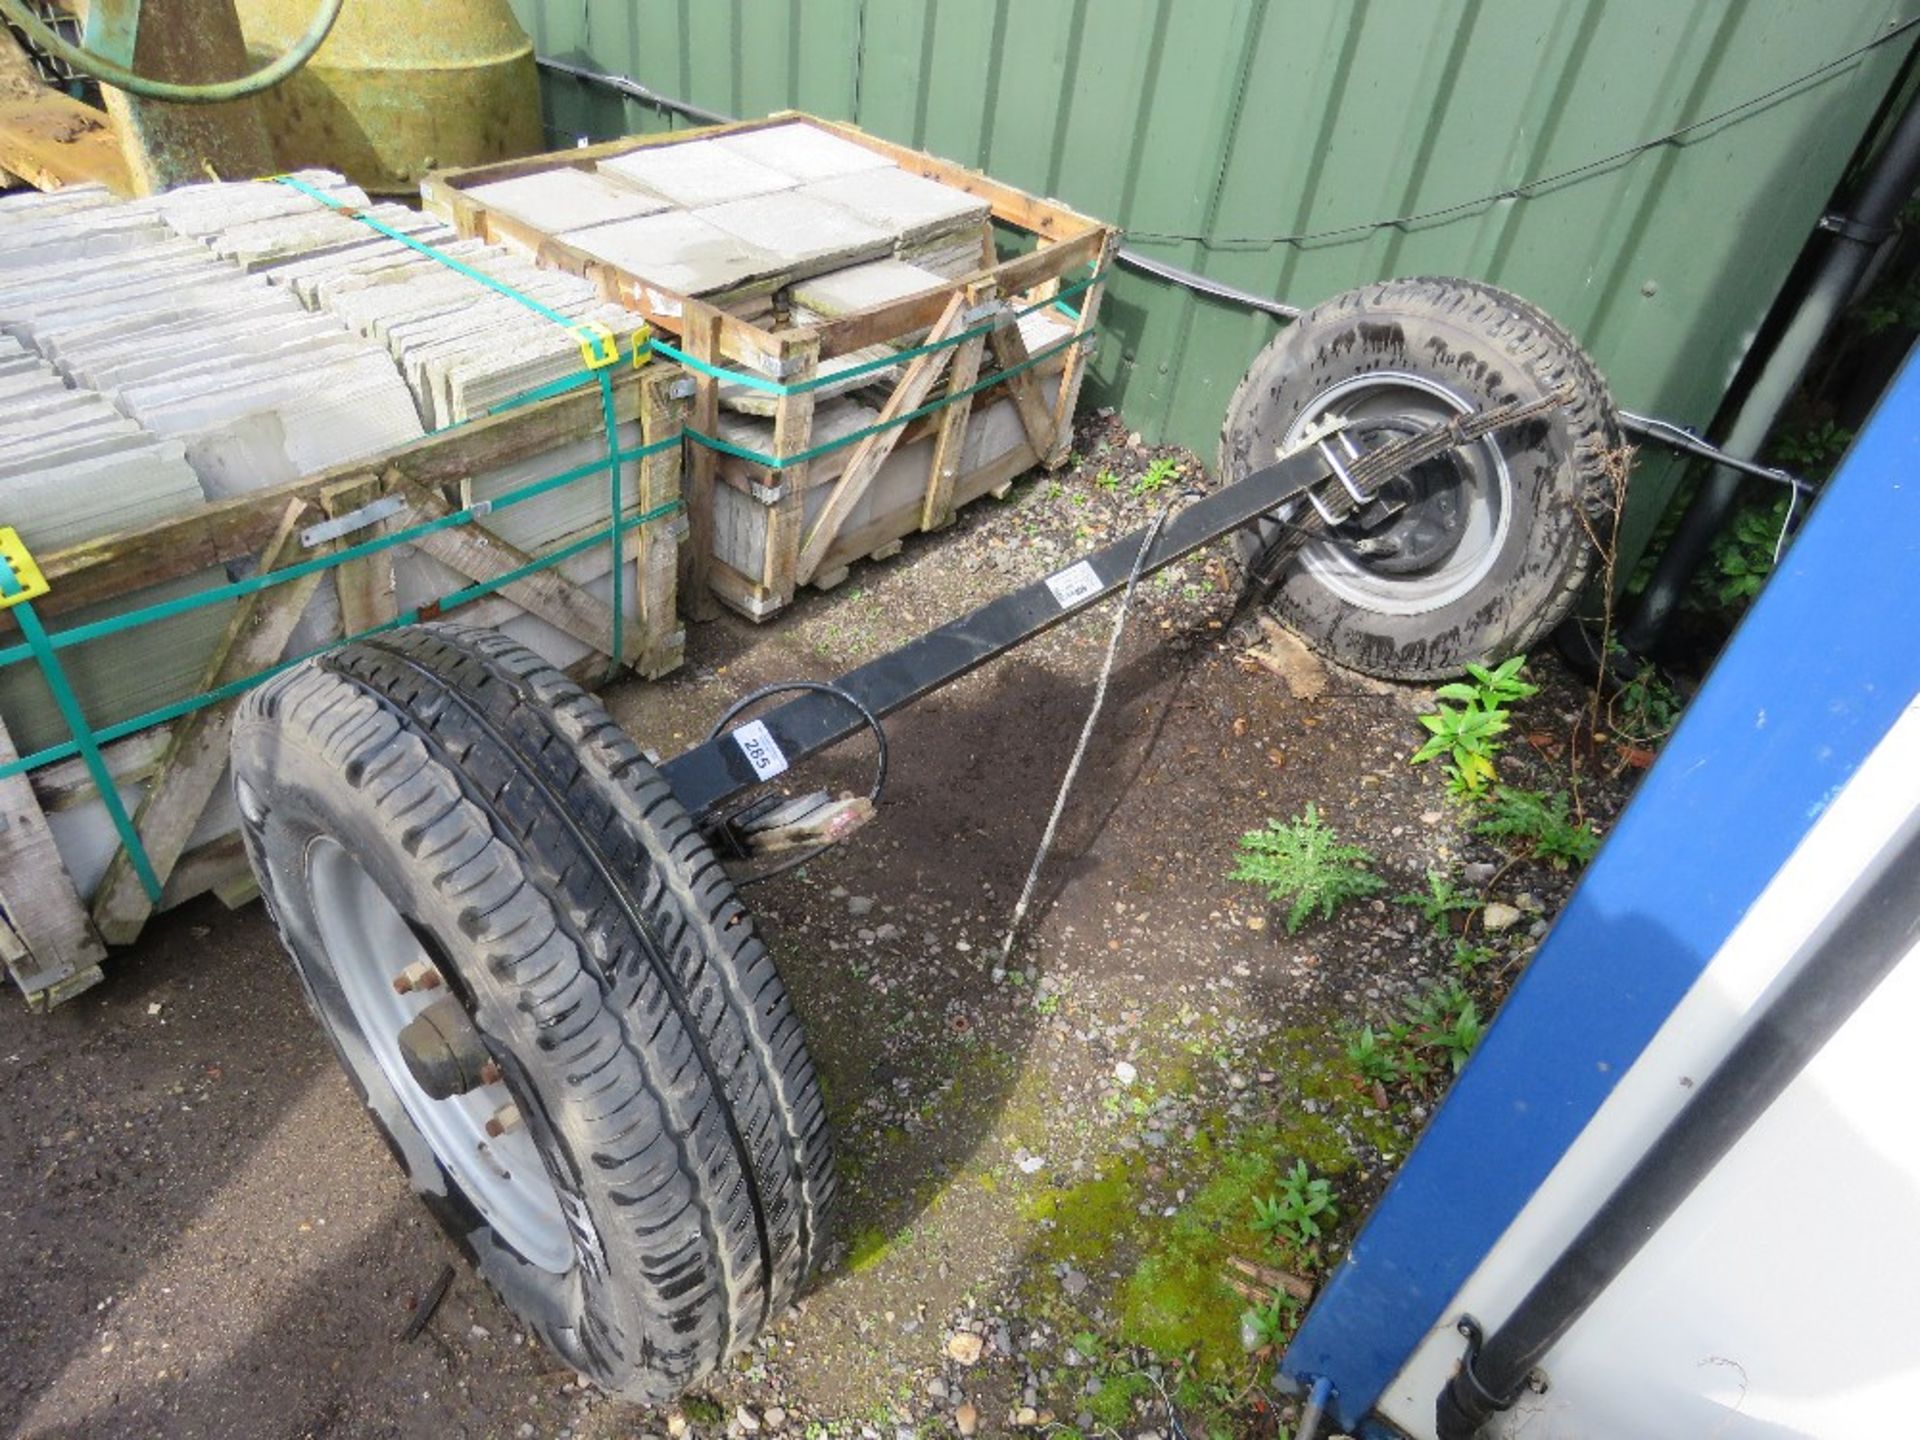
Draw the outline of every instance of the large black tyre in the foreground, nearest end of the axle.
<instances>
[{"instance_id":1,"label":"large black tyre in the foreground, nearest end of the axle","mask_svg":"<svg viewBox=\"0 0 1920 1440\"><path fill-rule=\"evenodd\" d=\"M747 910L599 703L497 634L396 630L248 695L232 772L313 1010L413 1188L505 1304L639 1402L751 1342L822 1252L820 1087ZM349 1002L365 981L323 933L351 916L321 916L330 891L313 879L315 856L340 852L499 1064L561 1202L559 1265L503 1238L484 1187L409 1112L453 1102L403 1098L411 1077L371 1046Z\"/></svg>"}]
</instances>

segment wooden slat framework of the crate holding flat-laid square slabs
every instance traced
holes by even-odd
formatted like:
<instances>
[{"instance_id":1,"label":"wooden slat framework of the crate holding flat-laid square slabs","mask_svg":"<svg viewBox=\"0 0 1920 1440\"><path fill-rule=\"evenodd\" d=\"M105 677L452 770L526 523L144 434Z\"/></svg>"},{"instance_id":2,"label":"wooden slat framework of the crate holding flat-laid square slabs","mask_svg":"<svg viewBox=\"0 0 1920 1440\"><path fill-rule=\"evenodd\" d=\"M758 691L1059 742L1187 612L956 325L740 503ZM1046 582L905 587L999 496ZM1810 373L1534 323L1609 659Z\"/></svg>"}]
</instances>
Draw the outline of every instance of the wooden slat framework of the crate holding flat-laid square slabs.
<instances>
[{"instance_id":1,"label":"wooden slat framework of the crate holding flat-laid square slabs","mask_svg":"<svg viewBox=\"0 0 1920 1440\"><path fill-rule=\"evenodd\" d=\"M804 123L828 134L849 140L895 161L910 175L920 175L985 200L993 221L1031 234L1035 248L1012 259L996 259L991 223L983 227L981 267L947 284L914 296L874 305L864 311L835 317L814 326L768 328L730 315L724 309L670 292L616 265L595 259L572 244L541 232L524 221L490 209L468 194L493 180L509 180L549 169L591 169L601 159L636 150L668 144L687 144L718 134L741 134L774 125ZM758 574L741 574L714 559L714 484L718 457L705 445L695 445L687 463L687 515L693 526L687 559L682 566L682 605L695 618L712 612L708 593L716 593L733 609L764 618L793 601L801 584L829 586L843 574L849 561L862 555L889 553L897 541L916 530L939 530L954 518L954 509L981 493L1002 490L1014 476L1044 465L1066 463L1073 444L1073 409L1079 403L1087 374L1091 332L1098 323L1104 276L1119 246L1119 232L1100 221L1079 215L1066 205L1029 196L1010 184L993 180L952 161L908 150L881 140L858 127L820 119L803 111L778 111L760 121L712 125L668 134L626 136L597 146L530 156L493 165L457 171L438 171L420 184L426 209L449 221L463 236L495 244L515 244L536 255L541 265L568 271L593 280L603 296L645 315L659 330L672 334L685 353L708 365L737 365L751 372L787 384L812 378L822 361L835 359L883 342L904 344L906 336L931 332L931 338L968 328L964 317L993 303L1033 303L1056 296L1073 276L1091 269L1092 284L1079 294L1079 317L1073 323L1075 344L1039 367L1014 374L1004 386L991 386L968 399L954 401L945 411L906 426L881 430L862 440L835 482L828 507L812 524L804 520L808 465L780 468L760 467L760 490L770 495L766 551ZM912 361L904 367L881 417L904 415L925 403L929 388L945 376L947 392L962 392L975 384L983 349L993 351L1002 371L1027 361L1025 346L1012 326L993 330L991 340L970 338L950 349ZM1043 397L1041 380L1058 372L1060 386L1052 403ZM695 397L689 424L714 434L720 382L695 374ZM1012 394L1025 428L1025 444L1012 455L1000 455L975 472L960 470L970 415L1000 394ZM799 455L812 447L814 394L781 396L774 411L776 459ZM862 497L881 463L897 445L935 436L927 465L925 493L912 507L899 507L860 528L841 534L839 522Z\"/></svg>"}]
</instances>

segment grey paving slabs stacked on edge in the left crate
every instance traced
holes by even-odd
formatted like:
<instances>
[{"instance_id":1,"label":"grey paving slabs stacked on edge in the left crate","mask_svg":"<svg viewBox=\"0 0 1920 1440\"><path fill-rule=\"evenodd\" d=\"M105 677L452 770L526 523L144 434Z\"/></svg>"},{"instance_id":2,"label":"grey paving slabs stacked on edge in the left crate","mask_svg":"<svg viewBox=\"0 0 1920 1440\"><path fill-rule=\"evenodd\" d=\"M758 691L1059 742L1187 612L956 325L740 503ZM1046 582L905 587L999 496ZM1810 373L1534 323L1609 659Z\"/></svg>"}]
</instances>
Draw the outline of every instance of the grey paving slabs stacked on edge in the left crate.
<instances>
[{"instance_id":1,"label":"grey paving slabs stacked on edge in the left crate","mask_svg":"<svg viewBox=\"0 0 1920 1440\"><path fill-rule=\"evenodd\" d=\"M634 326L576 276L461 242L399 205L371 205L338 175L298 179L568 321L616 334ZM134 202L102 188L0 198L0 524L38 555L380 455L580 367L578 342L555 321L294 186L196 184ZM639 426L626 424L620 444L637 445ZM470 499L599 455L605 438L478 474ZM622 480L634 509L637 467ZM601 480L482 524L541 553L605 520ZM605 595L611 547L601 555L597 576L591 563L570 563L570 574ZM211 570L69 611L56 630L204 593L238 574ZM403 607L467 584L411 547L396 551ZM626 595L632 609L637 584ZM559 664L586 655L513 607L492 603L490 614ZM198 691L230 616L223 601L65 649L88 720L113 724ZM338 595L321 586L288 651L338 634ZM23 755L67 739L31 664L0 670L0 716ZM125 799L136 803L138 789L129 785ZM219 810L209 806L207 837L230 828ZM84 895L113 849L98 803L61 812L56 841Z\"/></svg>"}]
</instances>

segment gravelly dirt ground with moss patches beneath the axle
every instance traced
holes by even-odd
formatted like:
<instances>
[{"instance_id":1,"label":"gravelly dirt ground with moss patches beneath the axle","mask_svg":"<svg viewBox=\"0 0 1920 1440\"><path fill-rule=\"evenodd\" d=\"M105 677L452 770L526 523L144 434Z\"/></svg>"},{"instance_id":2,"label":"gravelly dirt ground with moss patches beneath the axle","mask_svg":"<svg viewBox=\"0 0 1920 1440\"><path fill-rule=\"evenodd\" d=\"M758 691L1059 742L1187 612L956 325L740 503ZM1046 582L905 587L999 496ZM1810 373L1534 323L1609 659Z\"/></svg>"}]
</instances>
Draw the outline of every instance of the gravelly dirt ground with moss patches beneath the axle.
<instances>
[{"instance_id":1,"label":"gravelly dirt ground with moss patches beneath the axle","mask_svg":"<svg viewBox=\"0 0 1920 1440\"><path fill-rule=\"evenodd\" d=\"M680 674L609 701L674 753L751 685L831 676L1142 522L1181 484L1150 459L1094 422L1073 470L772 626L695 626ZM1340 1035L1446 973L1448 947L1388 897L1440 868L1513 906L1473 981L1492 1004L1569 879L1507 866L1407 764L1430 693L1308 666L1296 684L1323 693L1296 699L1246 662L1229 591L1217 555L1146 589L1006 968L1106 611L902 712L877 824L749 891L828 1087L843 1244L707 1392L643 1411L530 1348L407 1194L259 906L207 900L52 1016L0 1002L0 1432L1279 1432L1271 1365L1240 1348L1244 1302L1206 1246L1244 1238L1246 1198L1298 1156L1334 1181L1338 1223L1283 1260L1329 1263L1425 1117L1430 1094L1342 1068ZM1542 783L1580 695L1534 672L1534 743L1505 764ZM866 766L856 741L808 776L864 787ZM1227 870L1244 829L1309 801L1388 883L1286 935ZM1617 803L1586 791L1596 816Z\"/></svg>"}]
</instances>

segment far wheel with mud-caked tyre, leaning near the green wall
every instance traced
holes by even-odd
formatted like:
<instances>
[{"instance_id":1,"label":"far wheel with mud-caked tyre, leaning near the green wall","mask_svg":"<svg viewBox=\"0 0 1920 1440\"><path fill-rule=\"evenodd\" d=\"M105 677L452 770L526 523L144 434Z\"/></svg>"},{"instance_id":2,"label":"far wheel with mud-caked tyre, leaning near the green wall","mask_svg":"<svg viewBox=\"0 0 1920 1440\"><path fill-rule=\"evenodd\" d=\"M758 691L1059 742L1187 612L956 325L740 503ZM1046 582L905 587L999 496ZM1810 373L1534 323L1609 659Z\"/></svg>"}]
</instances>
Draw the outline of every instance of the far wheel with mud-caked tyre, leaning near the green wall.
<instances>
[{"instance_id":1,"label":"far wheel with mud-caked tyre, leaning near the green wall","mask_svg":"<svg viewBox=\"0 0 1920 1440\"><path fill-rule=\"evenodd\" d=\"M1613 526L1607 457L1620 447L1592 361L1505 290L1386 280L1302 315L1254 359L1227 405L1225 480L1271 465L1298 426L1325 413L1392 432L1536 399L1563 380L1574 396L1548 419L1430 463L1450 467L1438 478L1417 472L1427 530L1411 532L1409 507L1392 524L1419 543L1380 541L1398 568L1357 553L1350 541L1361 532L1348 526L1348 543L1311 541L1283 570L1275 618L1331 659L1390 680L1438 680L1519 655L1567 616L1594 570L1594 536ZM1242 532L1252 570L1283 534L1279 520Z\"/></svg>"}]
</instances>

